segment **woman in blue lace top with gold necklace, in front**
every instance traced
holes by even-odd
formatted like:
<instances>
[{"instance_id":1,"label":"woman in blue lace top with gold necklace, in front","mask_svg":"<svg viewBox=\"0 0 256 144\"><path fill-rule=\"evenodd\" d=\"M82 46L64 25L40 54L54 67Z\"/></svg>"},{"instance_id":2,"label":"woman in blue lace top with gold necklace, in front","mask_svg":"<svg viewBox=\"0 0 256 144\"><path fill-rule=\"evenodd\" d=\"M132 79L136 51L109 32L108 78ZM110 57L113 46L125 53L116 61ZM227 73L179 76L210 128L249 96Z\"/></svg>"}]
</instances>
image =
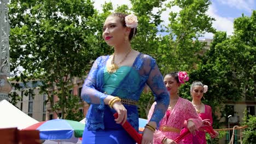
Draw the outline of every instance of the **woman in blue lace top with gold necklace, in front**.
<instances>
[{"instance_id":1,"label":"woman in blue lace top with gold necklace, in front","mask_svg":"<svg viewBox=\"0 0 256 144\"><path fill-rule=\"evenodd\" d=\"M121 124L127 120L138 131L137 101L146 83L157 104L144 129L142 143L153 143L155 128L169 104L169 94L155 59L131 48L137 22L133 14L114 13L104 23L102 37L114 47L114 53L98 57L84 81L82 98L90 107L83 143L136 143Z\"/></svg>"}]
</instances>

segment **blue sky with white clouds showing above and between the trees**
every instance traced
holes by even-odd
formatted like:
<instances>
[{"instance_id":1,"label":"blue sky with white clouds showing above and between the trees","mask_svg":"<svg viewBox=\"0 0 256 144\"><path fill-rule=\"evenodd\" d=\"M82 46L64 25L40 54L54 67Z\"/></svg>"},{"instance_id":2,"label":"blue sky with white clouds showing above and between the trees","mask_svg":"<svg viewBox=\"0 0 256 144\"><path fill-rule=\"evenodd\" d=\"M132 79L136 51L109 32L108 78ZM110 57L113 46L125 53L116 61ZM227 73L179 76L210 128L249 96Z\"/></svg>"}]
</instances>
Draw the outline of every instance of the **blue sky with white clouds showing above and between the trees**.
<instances>
[{"instance_id":1,"label":"blue sky with white clouds showing above and between the trees","mask_svg":"<svg viewBox=\"0 0 256 144\"><path fill-rule=\"evenodd\" d=\"M104 2L112 2L114 8L117 8L117 5L127 4L131 7L131 2L129 0L93 0L94 6L98 10L102 10L101 5ZM143 1L143 0L142 0ZM171 0L167 0L170 2ZM166 2L166 3L167 3ZM211 1L207 14L211 17L214 17L216 21L213 22L213 27L218 31L225 31L228 35L232 35L233 22L237 17L241 17L242 13L246 16L251 16L252 10L256 10L256 1L255 0L213 0ZM167 13L170 11L179 11L178 7L172 9L167 9ZM161 19L164 20L164 25L168 24L168 15L161 15ZM206 33L203 38L212 38L213 34Z\"/></svg>"}]
</instances>

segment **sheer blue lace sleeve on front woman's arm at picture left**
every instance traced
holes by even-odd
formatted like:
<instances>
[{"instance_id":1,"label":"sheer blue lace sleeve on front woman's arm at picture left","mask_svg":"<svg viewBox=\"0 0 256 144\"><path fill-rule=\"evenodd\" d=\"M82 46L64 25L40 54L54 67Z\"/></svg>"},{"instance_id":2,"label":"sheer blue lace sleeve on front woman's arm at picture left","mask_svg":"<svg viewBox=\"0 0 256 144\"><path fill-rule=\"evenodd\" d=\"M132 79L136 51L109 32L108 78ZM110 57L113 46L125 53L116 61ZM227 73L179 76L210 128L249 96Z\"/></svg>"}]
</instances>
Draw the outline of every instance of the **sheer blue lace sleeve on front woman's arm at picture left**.
<instances>
[{"instance_id":1,"label":"sheer blue lace sleeve on front woman's arm at picture left","mask_svg":"<svg viewBox=\"0 0 256 144\"><path fill-rule=\"evenodd\" d=\"M99 92L96 89L96 80L101 79L100 77L97 77L98 70L101 68L101 65L103 63L103 58L98 57L94 64L92 65L92 68L90 70L90 73L88 74L88 77L85 79L81 96L84 101L88 104L100 104L100 107L103 107L104 105L104 99L108 96L107 94L104 94L102 92Z\"/></svg>"}]
</instances>

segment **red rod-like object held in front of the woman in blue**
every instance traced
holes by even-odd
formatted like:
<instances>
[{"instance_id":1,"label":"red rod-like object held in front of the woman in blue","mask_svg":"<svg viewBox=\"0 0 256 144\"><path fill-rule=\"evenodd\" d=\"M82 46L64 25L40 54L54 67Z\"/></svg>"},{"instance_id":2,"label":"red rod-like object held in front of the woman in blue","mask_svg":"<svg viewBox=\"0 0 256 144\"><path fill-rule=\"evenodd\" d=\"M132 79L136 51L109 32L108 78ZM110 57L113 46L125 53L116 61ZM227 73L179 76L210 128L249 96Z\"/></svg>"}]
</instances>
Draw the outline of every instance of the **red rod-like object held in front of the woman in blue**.
<instances>
[{"instance_id":1,"label":"red rod-like object held in front of the woman in blue","mask_svg":"<svg viewBox=\"0 0 256 144\"><path fill-rule=\"evenodd\" d=\"M114 114L115 118L118 118L118 113ZM125 122L123 128L127 131L127 133L135 140L138 144L141 144L142 136L138 134L138 132L132 127L129 122Z\"/></svg>"}]
</instances>

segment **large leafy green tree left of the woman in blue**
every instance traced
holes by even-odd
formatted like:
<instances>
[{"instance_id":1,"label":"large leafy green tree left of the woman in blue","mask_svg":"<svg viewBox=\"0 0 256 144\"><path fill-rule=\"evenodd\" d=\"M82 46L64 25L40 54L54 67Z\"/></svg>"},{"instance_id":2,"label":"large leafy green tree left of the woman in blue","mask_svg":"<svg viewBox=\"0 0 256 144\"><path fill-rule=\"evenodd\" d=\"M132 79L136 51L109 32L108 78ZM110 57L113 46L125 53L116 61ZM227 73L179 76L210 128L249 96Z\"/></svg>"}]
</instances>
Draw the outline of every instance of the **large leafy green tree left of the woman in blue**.
<instances>
[{"instance_id":1,"label":"large leafy green tree left of the woman in blue","mask_svg":"<svg viewBox=\"0 0 256 144\"><path fill-rule=\"evenodd\" d=\"M69 94L73 77L82 77L89 70L95 50L95 27L90 26L95 10L91 1L11 1L10 18L10 63L15 74L18 67L22 80L40 79L42 92L56 86L53 95L59 101L52 109L62 110L62 118L75 116L78 98ZM53 103L53 101L51 101ZM73 117L75 116L75 117Z\"/></svg>"}]
</instances>

